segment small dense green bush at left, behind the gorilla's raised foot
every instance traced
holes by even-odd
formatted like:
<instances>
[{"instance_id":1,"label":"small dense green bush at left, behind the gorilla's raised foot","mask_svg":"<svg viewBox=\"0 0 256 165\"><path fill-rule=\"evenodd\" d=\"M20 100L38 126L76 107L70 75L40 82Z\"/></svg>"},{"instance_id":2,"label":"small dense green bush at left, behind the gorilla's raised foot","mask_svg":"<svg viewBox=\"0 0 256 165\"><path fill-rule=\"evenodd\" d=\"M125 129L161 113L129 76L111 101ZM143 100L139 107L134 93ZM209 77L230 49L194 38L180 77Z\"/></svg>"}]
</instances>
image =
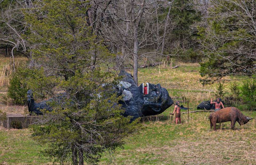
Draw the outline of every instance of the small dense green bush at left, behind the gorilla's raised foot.
<instances>
[{"instance_id":1,"label":"small dense green bush at left, behind the gorilla's raised foot","mask_svg":"<svg viewBox=\"0 0 256 165\"><path fill-rule=\"evenodd\" d=\"M23 76L20 69L10 79L10 85L8 87L8 97L13 104L24 105L27 100L27 85L22 82Z\"/></svg>"}]
</instances>

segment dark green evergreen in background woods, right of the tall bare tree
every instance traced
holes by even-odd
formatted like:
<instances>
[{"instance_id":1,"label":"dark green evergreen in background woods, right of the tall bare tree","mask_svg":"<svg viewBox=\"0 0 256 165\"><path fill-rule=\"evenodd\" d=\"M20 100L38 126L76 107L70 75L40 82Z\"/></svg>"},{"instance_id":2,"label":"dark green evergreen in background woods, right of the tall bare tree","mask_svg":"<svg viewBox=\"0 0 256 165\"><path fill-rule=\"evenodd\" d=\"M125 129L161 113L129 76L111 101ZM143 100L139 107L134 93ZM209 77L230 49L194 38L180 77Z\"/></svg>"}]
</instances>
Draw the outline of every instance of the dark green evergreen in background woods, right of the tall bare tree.
<instances>
[{"instance_id":1,"label":"dark green evergreen in background woods, right of the tall bare tree","mask_svg":"<svg viewBox=\"0 0 256 165\"><path fill-rule=\"evenodd\" d=\"M201 20L200 12L196 11L195 5L191 0L175 0L171 5L170 19L174 28L168 35L169 42L174 45L167 49L167 54L179 54L180 56L176 58L182 61L196 62L202 57L202 54L197 51L199 49L199 43L196 41L198 30L192 28L193 24ZM165 17L168 10L167 8L160 20Z\"/></svg>"}]
</instances>

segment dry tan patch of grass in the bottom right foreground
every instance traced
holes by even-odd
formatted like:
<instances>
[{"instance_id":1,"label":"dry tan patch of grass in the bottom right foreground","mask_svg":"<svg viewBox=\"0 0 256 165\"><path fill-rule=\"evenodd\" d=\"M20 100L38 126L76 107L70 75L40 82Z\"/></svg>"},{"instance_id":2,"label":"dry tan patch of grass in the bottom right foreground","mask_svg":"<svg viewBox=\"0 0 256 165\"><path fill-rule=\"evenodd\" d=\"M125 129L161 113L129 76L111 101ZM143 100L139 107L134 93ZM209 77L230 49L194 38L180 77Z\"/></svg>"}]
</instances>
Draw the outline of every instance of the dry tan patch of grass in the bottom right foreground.
<instances>
[{"instance_id":1,"label":"dry tan patch of grass in the bottom right foreground","mask_svg":"<svg viewBox=\"0 0 256 165\"><path fill-rule=\"evenodd\" d=\"M256 164L255 141L251 141L248 145L246 139L213 137L202 137L196 141L195 139L180 140L179 142L173 140L162 147L149 145L146 148L138 148L136 152L154 153L160 155L160 159L171 160L175 164Z\"/></svg>"}]
</instances>

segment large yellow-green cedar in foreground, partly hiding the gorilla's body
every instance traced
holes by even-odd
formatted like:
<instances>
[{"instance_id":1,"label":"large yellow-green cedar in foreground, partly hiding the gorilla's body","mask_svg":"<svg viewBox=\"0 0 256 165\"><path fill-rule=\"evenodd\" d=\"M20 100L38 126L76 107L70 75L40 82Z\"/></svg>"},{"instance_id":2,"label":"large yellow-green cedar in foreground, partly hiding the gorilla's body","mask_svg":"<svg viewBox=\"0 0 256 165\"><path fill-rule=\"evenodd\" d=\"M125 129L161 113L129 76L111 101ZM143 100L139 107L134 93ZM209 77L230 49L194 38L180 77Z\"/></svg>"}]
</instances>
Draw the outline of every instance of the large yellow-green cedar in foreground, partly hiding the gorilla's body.
<instances>
[{"instance_id":1,"label":"large yellow-green cedar in foreground, partly hiding the gorilla's body","mask_svg":"<svg viewBox=\"0 0 256 165\"><path fill-rule=\"evenodd\" d=\"M36 5L40 7L25 13L36 63L25 71L26 83L35 93L62 97L48 103L53 111L44 112L32 127L33 137L57 162L96 164L102 152L122 146L123 138L138 130L138 120L129 123L118 104L117 75L109 69L115 55L94 42L86 23L88 1L44 0Z\"/></svg>"}]
</instances>

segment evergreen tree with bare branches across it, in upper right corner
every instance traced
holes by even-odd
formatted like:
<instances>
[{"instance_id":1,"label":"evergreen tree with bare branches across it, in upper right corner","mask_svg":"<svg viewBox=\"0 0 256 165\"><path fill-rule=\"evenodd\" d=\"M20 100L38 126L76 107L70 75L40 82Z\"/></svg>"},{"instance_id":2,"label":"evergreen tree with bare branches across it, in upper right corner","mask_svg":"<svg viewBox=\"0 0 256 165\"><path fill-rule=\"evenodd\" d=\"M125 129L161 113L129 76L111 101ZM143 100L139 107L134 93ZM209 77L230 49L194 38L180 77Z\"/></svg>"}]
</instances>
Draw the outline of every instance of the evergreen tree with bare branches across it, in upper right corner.
<instances>
[{"instance_id":1,"label":"evergreen tree with bare branches across it, in upper right corner","mask_svg":"<svg viewBox=\"0 0 256 165\"><path fill-rule=\"evenodd\" d=\"M251 15L252 0L216 0L209 10L208 24L198 27L201 45L208 61L201 63L200 74L203 83L213 83L226 75L255 74L255 60L247 54L255 49L255 24Z\"/></svg>"}]
</instances>

